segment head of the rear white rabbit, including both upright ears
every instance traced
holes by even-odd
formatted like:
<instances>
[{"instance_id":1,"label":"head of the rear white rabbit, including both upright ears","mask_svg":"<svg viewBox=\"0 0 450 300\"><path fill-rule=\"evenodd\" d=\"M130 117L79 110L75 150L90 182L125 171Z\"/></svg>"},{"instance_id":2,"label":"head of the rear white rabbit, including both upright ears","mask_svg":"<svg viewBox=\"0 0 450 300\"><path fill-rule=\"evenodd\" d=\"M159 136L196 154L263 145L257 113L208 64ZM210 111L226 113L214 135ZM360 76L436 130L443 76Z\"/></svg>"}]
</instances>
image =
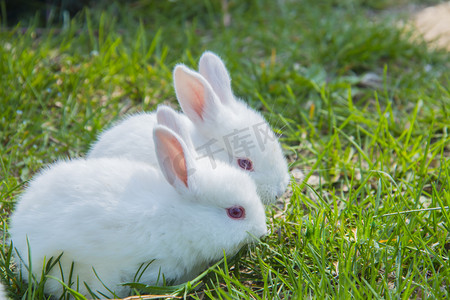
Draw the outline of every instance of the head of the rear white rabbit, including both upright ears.
<instances>
[{"instance_id":1,"label":"head of the rear white rabbit, including both upright ears","mask_svg":"<svg viewBox=\"0 0 450 300\"><path fill-rule=\"evenodd\" d=\"M181 108L205 137L204 144L197 145L199 158L213 166L222 160L244 170L254 179L261 200L274 202L289 183L276 135L260 113L234 97L228 72L217 56L205 53L200 72L183 65L174 70Z\"/></svg>"}]
</instances>

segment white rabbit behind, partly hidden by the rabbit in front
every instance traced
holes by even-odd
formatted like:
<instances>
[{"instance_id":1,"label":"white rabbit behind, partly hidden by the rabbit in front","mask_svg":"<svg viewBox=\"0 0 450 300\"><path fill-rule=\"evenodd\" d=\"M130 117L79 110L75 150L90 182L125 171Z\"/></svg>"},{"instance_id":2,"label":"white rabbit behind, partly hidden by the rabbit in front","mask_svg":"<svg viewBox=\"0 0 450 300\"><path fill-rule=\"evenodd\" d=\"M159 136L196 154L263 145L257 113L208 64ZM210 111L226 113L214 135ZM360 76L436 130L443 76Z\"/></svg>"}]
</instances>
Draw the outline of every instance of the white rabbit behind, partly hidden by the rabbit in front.
<instances>
[{"instance_id":1,"label":"white rabbit behind, partly hidden by the rabbit in front","mask_svg":"<svg viewBox=\"0 0 450 300\"><path fill-rule=\"evenodd\" d=\"M275 202L289 183L280 144L263 116L234 97L222 60L212 52L200 58L200 74L184 65L174 69L174 86L185 115L181 127L191 136L197 159L225 161L246 170L265 204ZM166 109L166 108L165 108ZM123 156L156 165L151 129L155 113L131 115L103 132L88 158Z\"/></svg>"}]
</instances>

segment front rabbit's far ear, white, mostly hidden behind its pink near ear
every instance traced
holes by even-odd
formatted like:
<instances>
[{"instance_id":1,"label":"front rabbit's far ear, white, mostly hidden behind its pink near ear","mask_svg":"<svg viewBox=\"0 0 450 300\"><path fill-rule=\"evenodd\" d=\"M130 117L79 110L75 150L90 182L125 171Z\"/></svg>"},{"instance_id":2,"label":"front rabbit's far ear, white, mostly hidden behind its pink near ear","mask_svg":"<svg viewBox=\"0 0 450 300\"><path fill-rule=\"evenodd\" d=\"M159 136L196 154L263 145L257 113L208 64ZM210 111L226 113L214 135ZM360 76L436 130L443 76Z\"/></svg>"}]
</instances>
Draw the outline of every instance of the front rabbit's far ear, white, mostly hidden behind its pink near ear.
<instances>
[{"instance_id":1,"label":"front rabbit's far ear, white, mostly hidden behind its pink near ear","mask_svg":"<svg viewBox=\"0 0 450 300\"><path fill-rule=\"evenodd\" d=\"M188 149L194 149L189 131L186 128L186 121L190 122L187 118L183 120L184 116L181 113L176 112L172 108L166 105L159 105L156 109L156 121L160 125L164 125L178 134L185 142Z\"/></svg>"}]
</instances>

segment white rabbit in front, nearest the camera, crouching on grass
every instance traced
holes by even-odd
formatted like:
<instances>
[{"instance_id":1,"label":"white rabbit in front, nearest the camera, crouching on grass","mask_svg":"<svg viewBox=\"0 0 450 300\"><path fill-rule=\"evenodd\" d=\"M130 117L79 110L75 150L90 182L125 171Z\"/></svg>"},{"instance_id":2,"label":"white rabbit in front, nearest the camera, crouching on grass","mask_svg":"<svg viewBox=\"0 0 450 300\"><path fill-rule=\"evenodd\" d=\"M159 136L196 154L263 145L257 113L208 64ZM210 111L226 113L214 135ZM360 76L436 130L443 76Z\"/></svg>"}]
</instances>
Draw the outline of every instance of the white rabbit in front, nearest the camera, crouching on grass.
<instances>
[{"instance_id":1,"label":"white rabbit in front, nearest the camera, crouching on grass","mask_svg":"<svg viewBox=\"0 0 450 300\"><path fill-rule=\"evenodd\" d=\"M153 139L160 170L124 158L60 161L43 170L20 197L10 235L23 260L40 280L44 261L61 257L64 279L79 278L80 292L126 296L143 263L140 281L173 284L234 255L266 234L264 207L245 172L217 162L212 169L165 126ZM17 260L19 260L17 255ZM56 266L50 275L61 278ZM159 281L158 281L159 278ZM62 285L48 279L45 291L59 296Z\"/></svg>"}]
</instances>

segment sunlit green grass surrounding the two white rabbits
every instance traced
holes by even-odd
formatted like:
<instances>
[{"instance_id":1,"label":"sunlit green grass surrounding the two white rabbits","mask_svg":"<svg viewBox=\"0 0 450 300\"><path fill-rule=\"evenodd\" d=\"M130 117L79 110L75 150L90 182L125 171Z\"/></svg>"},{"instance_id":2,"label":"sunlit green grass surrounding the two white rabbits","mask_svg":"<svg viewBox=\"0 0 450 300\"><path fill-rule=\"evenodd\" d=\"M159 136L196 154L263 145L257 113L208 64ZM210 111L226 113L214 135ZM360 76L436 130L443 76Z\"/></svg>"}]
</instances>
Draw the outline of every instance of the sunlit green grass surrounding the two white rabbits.
<instances>
[{"instance_id":1,"label":"sunlit green grass surrounding the two white rabbits","mask_svg":"<svg viewBox=\"0 0 450 300\"><path fill-rule=\"evenodd\" d=\"M230 1L224 26L219 1L140 0L53 27L39 18L2 27L0 271L10 296L43 297L42 285L13 273L5 243L26 181L83 156L123 115L175 104L172 68L196 68L208 49L226 61L236 94L283 134L290 169L304 176L267 208L271 233L260 244L211 268L196 289L158 293L449 298L450 55L386 13L404 4Z\"/></svg>"}]
</instances>

